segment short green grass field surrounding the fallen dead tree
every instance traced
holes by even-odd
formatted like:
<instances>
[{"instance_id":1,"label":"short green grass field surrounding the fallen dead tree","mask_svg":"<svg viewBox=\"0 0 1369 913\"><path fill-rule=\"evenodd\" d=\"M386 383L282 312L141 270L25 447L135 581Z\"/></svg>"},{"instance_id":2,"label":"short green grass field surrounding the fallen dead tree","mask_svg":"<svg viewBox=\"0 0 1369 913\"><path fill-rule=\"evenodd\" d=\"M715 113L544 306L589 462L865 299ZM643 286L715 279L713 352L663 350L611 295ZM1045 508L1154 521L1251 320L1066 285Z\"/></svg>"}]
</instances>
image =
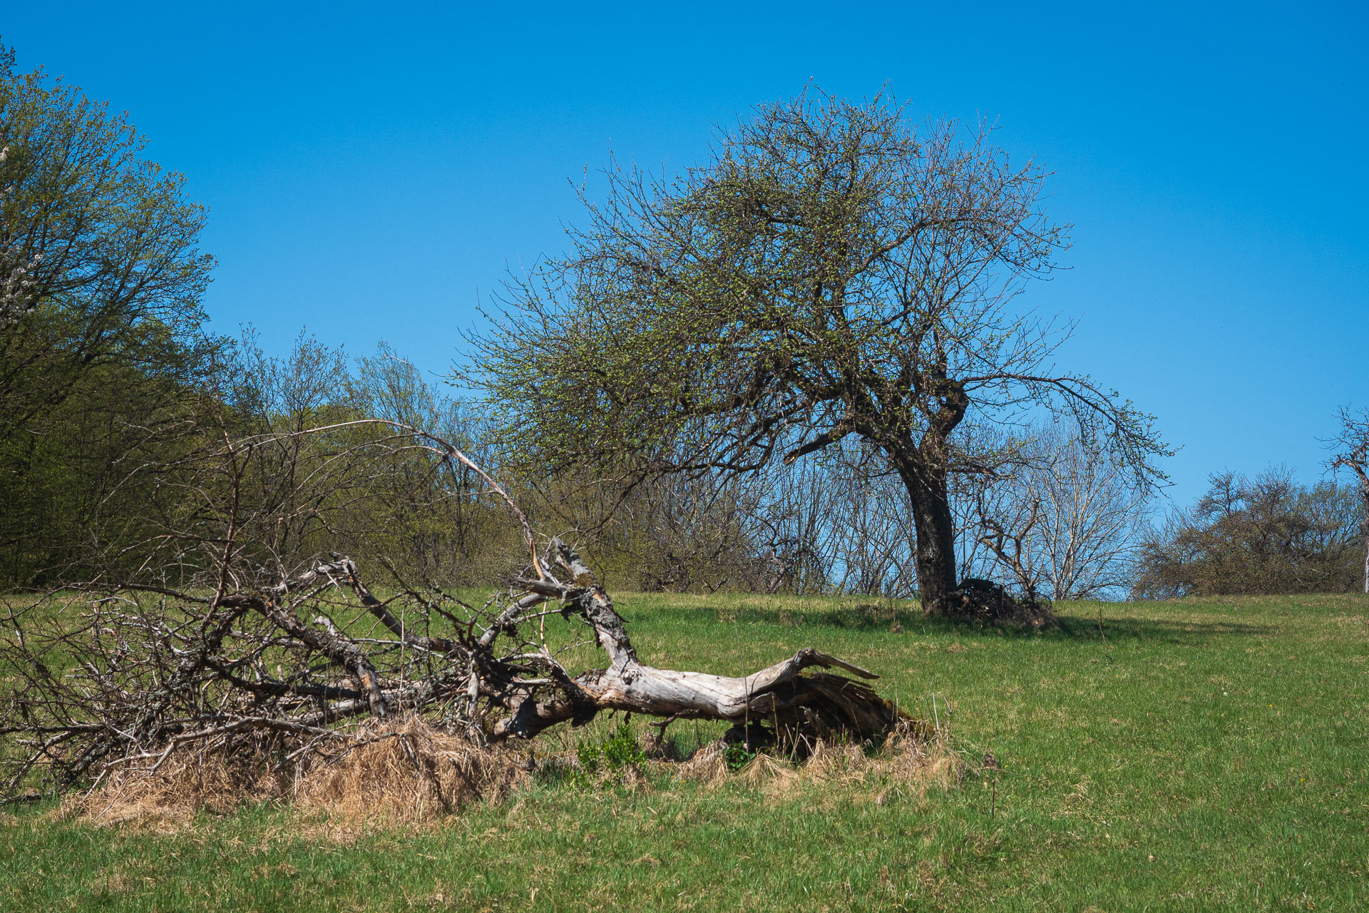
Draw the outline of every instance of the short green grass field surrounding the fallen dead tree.
<instances>
[{"instance_id":1,"label":"short green grass field surrounding the fallen dead tree","mask_svg":"<svg viewBox=\"0 0 1369 913\"><path fill-rule=\"evenodd\" d=\"M1066 605L1050 634L865 600L617 602L648 663L735 675L817 646L875 669L972 772L879 797L534 786L346 840L275 806L172 832L23 809L0 819L0 909L1369 909L1369 598Z\"/></svg>"}]
</instances>

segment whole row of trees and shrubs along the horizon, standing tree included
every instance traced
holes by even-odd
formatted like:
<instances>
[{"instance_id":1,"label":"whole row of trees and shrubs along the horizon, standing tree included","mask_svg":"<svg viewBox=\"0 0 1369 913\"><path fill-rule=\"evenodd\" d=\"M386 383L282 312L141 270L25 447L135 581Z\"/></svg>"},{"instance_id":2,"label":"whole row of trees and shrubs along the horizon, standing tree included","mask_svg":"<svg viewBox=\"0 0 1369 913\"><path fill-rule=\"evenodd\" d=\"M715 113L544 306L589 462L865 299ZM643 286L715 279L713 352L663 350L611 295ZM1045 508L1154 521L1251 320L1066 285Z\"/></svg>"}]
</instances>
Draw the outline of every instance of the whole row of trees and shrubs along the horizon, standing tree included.
<instances>
[{"instance_id":1,"label":"whole row of trees and shrubs along the horizon, standing tree included","mask_svg":"<svg viewBox=\"0 0 1369 913\"><path fill-rule=\"evenodd\" d=\"M126 115L0 56L0 587L193 578L197 512L253 560L442 584L523 545L439 435L617 587L919 597L1369 591L1369 415L1331 468L1212 478L1154 523L1153 416L1064 371L1019 307L1066 227L987 129L876 96L763 105L676 179L612 164L571 249L515 277L453 382L303 335L205 330L204 209ZM240 509L241 508L241 509ZM177 530L177 535L170 535ZM166 548L175 542L177 549ZM222 564L219 561L218 564ZM984 595L984 594L990 595Z\"/></svg>"}]
</instances>

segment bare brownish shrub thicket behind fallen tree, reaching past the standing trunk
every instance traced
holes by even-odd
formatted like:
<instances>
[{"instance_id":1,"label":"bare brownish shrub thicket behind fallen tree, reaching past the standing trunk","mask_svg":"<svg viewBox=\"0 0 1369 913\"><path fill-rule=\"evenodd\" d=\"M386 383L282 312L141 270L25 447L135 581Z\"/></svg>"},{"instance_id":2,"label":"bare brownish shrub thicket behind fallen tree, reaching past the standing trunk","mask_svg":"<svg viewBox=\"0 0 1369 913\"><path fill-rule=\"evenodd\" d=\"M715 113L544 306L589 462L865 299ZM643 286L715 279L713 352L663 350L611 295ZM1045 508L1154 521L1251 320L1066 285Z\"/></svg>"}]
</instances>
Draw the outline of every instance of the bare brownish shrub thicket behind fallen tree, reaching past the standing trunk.
<instances>
[{"instance_id":1,"label":"bare brownish shrub thicket behind fallen tree, reaching past the standing trunk","mask_svg":"<svg viewBox=\"0 0 1369 913\"><path fill-rule=\"evenodd\" d=\"M408 450L378 456L367 474L331 490L327 511L316 509L319 496L307 482L323 465L319 454L330 452L334 438L356 443L366 433L346 423L367 416L434 434L470 452L507 482L538 528L590 549L613 586L919 594L916 523L906 485L887 454L860 438L850 437L806 460L767 464L750 475L701 470L663 476L631 465L619 472L552 474L501 445L501 430L479 407L434 391L413 365L385 346L349 359L341 349L301 334L287 355L277 357L249 331L218 357L215 371L199 389L178 394L175 409L141 416L136 424L111 416L140 443L104 472L105 480L92 496L96 504L90 513L99 522L71 537L84 541L67 543L66 578L77 568L92 576L120 561L141 561L138 543L157 534L166 522L162 515L196 504L199 496L178 487L174 474L136 467L175 465L178 454L201 452L205 438L222 442L274 435L279 445L253 452L256 470L242 485L244 497L279 517L253 543L260 560L277 572L298 565L326 542L357 561L383 557L416 580L464 586L507 579L522 560L522 543L500 509L482 498L486 487L467 467L437 471L430 460ZM330 424L345 430L300 434ZM323 441L327 446L320 449ZM1077 463L1055 460L1051 446L1071 445L1064 437L1036 445L1034 485L1045 483L1043 474L1055 464L1068 468ZM957 449L975 448L965 442ZM977 450L984 453L986 448ZM671 461L668 456L654 459ZM1001 513L1005 505L1034 502L1036 494L1020 485L1019 476L1003 475L1001 459L984 465L998 470L953 475L961 576L990 578L1027 593L1028 587L1002 574L986 550L982 512L965 508L976 506L982 482L990 478L990 501ZM1079 479L1061 476L1051 491ZM181 496L186 505L174 504ZM346 506L344 498L350 498ZM1087 504L1092 508L1097 502ZM1034 542L1042 541L1042 528L1038 524L1034 530ZM1077 545L1077 535L1075 541ZM120 548L114 548L116 543ZM1087 560L1069 564L1073 558L1069 552L1064 565L1097 567ZM1035 561L1032 567L1047 564ZM1036 571L1028 580L1038 591L1042 574ZM1098 591L1097 586L1073 583L1058 587L1054 580L1060 575L1051 571L1049 576L1049 593L1057 597Z\"/></svg>"}]
</instances>

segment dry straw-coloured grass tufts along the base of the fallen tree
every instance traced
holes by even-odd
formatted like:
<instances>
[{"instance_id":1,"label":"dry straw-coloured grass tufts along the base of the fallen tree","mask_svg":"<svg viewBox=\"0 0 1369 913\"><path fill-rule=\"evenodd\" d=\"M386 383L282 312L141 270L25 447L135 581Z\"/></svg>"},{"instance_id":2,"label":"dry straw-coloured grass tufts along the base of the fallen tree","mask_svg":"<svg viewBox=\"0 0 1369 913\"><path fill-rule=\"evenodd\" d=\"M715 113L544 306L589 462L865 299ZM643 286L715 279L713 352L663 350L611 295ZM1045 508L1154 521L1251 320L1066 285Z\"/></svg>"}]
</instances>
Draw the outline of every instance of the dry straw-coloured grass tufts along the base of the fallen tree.
<instances>
[{"instance_id":1,"label":"dry straw-coloured grass tufts along the base of the fallen tree","mask_svg":"<svg viewBox=\"0 0 1369 913\"><path fill-rule=\"evenodd\" d=\"M858 745L817 742L798 765L758 754L735 773L728 772L723 747L709 745L680 761L601 771L591 782L635 790L652 783L660 788L669 782L732 780L771 799L808 786L839 787L843 794L872 801L890 790L921 795L931 786L958 783L965 767L945 739L927 728L904 724L876 753ZM55 814L174 832L189 827L200 812L229 813L248 802L279 802L311 821L311 831L349 839L359 831L430 824L470 802L497 802L533 779L522 753L444 734L420 717L370 724L355 739L341 757L297 771L293 779L193 756L156 772L118 771L99 788L68 797Z\"/></svg>"}]
</instances>

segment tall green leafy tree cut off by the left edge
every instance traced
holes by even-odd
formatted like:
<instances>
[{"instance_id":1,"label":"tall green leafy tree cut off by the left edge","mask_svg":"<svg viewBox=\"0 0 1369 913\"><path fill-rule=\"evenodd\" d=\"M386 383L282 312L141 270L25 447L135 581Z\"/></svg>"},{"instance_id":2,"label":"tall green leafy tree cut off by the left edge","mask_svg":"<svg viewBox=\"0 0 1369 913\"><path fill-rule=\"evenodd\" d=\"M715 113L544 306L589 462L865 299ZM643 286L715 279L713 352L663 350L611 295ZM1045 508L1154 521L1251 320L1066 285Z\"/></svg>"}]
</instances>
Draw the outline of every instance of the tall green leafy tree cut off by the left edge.
<instances>
[{"instance_id":1,"label":"tall green leafy tree cut off by the left edge","mask_svg":"<svg viewBox=\"0 0 1369 913\"><path fill-rule=\"evenodd\" d=\"M215 370L204 208L142 153L127 115L0 47L0 580L126 526L122 474Z\"/></svg>"}]
</instances>

